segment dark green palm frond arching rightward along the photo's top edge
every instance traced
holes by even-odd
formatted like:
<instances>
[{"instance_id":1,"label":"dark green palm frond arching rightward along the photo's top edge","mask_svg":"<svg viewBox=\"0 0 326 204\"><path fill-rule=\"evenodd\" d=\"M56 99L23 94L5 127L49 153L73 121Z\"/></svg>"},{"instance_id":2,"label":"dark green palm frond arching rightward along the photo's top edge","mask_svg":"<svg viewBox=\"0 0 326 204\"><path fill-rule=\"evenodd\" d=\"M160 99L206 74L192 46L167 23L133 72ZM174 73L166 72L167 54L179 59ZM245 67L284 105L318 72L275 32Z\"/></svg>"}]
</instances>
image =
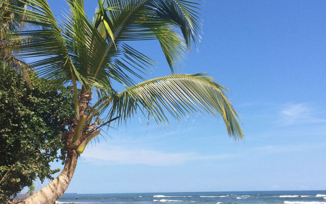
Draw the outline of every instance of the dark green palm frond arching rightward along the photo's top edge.
<instances>
[{"instance_id":1,"label":"dark green palm frond arching rightward along the photo's top edge","mask_svg":"<svg viewBox=\"0 0 326 204\"><path fill-rule=\"evenodd\" d=\"M201 23L198 20L198 1L108 0L107 2L108 6L114 5L115 9L106 8L107 11L110 10L106 14L106 11L104 13L100 11L104 9L100 4L97 11L100 14L95 16L94 22L102 36L106 36L108 41L108 46L97 66L98 70L101 69L102 64L108 62L109 56L117 51L116 44L119 42L157 39L173 73L174 66L184 57L185 45L190 48L191 42L196 44L197 38L200 38ZM103 19L103 22L105 20L108 29L104 29L100 19ZM178 28L183 34L185 43L175 31ZM107 34L111 32L112 34ZM124 70L123 67L120 68ZM145 67L141 67L141 69L146 70Z\"/></svg>"}]
</instances>

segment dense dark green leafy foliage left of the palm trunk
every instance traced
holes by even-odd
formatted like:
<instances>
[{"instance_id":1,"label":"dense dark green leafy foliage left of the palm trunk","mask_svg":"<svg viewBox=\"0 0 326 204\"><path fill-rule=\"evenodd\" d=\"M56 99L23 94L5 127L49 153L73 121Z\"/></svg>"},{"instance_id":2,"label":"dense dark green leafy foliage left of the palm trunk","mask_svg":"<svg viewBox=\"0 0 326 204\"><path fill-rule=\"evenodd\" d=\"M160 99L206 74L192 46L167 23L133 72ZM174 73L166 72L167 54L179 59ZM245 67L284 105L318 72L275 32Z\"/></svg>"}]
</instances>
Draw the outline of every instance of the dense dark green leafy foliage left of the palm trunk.
<instances>
[{"instance_id":1,"label":"dense dark green leafy foliage left of the palm trunk","mask_svg":"<svg viewBox=\"0 0 326 204\"><path fill-rule=\"evenodd\" d=\"M1 202L25 186L33 187L37 178L52 179L60 170L49 163L65 160L61 124L73 112L73 96L69 88L58 91L43 79L30 89L22 74L11 68L0 68L0 81Z\"/></svg>"}]
</instances>

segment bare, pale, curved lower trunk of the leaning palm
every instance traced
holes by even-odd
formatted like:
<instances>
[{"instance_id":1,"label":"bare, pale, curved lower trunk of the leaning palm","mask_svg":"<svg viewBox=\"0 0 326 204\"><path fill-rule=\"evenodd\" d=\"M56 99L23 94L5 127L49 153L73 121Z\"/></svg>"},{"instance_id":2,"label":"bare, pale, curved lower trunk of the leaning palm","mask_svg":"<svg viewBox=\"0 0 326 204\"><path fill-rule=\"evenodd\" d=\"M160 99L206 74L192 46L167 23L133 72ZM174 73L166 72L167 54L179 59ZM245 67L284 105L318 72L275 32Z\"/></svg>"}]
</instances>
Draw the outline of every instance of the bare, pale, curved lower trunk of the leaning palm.
<instances>
[{"instance_id":1,"label":"bare, pale, curved lower trunk of the leaning palm","mask_svg":"<svg viewBox=\"0 0 326 204\"><path fill-rule=\"evenodd\" d=\"M77 165L78 154L75 150L68 150L64 169L60 175L47 186L19 204L50 204L56 201L68 188Z\"/></svg>"}]
</instances>

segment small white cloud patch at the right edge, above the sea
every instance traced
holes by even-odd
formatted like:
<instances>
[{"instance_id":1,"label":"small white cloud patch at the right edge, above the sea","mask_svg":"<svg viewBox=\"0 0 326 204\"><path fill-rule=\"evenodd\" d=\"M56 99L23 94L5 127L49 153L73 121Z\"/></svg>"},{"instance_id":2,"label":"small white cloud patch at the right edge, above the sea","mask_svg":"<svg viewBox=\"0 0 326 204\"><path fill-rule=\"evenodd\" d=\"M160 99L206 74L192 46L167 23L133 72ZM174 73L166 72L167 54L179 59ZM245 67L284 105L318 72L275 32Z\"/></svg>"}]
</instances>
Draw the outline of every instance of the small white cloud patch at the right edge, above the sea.
<instances>
[{"instance_id":1,"label":"small white cloud patch at the right edge, above the sea","mask_svg":"<svg viewBox=\"0 0 326 204\"><path fill-rule=\"evenodd\" d=\"M289 104L281 110L280 122L285 125L326 122L326 119L318 118L316 114L317 111L309 104Z\"/></svg>"}]
</instances>

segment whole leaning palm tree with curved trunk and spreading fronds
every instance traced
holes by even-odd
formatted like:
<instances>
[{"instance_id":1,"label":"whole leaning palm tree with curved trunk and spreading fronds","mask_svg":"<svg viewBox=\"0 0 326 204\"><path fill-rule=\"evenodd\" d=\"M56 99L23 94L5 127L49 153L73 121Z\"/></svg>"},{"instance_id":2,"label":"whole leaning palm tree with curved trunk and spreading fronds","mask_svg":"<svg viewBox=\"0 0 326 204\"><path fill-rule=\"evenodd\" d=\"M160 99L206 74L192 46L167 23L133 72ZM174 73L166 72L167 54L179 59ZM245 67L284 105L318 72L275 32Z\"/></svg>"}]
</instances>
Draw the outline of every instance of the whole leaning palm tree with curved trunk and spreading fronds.
<instances>
[{"instance_id":1,"label":"whole leaning palm tree with curved trunk and spreading fronds","mask_svg":"<svg viewBox=\"0 0 326 204\"><path fill-rule=\"evenodd\" d=\"M209 113L223 118L231 137L243 137L225 87L203 73L174 74L176 64L200 38L198 0L99 0L93 21L84 12L83 0L67 2L70 13L60 22L46 0L28 0L30 9L7 8L30 17L33 20L22 21L37 26L12 34L30 38L12 47L17 56L34 57L30 65L41 77L74 87L74 114L64 124L68 126L63 134L67 147L64 169L22 203L52 203L63 195L78 156L101 127L113 121L121 124L141 114L165 124L168 115L179 120ZM135 40L158 40L172 74L146 81L154 61L128 44ZM143 82L135 84L135 80ZM114 85L125 90L117 92ZM96 103L90 107L93 93Z\"/></svg>"}]
</instances>

